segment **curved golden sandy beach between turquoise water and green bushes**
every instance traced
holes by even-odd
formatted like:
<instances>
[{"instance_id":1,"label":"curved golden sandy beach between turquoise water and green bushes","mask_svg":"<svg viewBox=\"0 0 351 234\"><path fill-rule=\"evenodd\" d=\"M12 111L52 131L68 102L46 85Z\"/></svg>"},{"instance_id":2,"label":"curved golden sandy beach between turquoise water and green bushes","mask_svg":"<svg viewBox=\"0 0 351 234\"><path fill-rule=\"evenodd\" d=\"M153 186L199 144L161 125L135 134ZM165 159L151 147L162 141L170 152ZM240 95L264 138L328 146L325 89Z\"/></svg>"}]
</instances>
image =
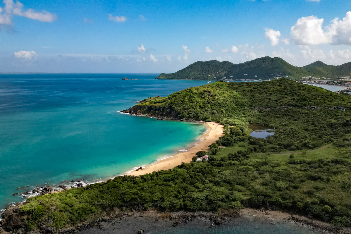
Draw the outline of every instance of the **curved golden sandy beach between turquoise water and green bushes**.
<instances>
[{"instance_id":1,"label":"curved golden sandy beach between turquoise water and green bushes","mask_svg":"<svg viewBox=\"0 0 351 234\"><path fill-rule=\"evenodd\" d=\"M187 151L181 152L176 154L175 156L166 158L164 160L160 160L157 163L145 167L144 170L139 170L139 171L132 171L128 173L127 175L143 175L143 174L148 174L152 173L154 171L160 171L160 170L168 170L172 169L173 167L176 167L180 165L180 163L185 162L188 163L191 161L191 159L196 156L195 153L198 151L208 151L208 145L211 145L211 143L215 142L218 140L220 136L223 136L223 125L217 122L207 122L205 123L208 128L210 129L207 131L202 137L204 138L203 141L199 142L197 145L194 147L191 147Z\"/></svg>"}]
</instances>

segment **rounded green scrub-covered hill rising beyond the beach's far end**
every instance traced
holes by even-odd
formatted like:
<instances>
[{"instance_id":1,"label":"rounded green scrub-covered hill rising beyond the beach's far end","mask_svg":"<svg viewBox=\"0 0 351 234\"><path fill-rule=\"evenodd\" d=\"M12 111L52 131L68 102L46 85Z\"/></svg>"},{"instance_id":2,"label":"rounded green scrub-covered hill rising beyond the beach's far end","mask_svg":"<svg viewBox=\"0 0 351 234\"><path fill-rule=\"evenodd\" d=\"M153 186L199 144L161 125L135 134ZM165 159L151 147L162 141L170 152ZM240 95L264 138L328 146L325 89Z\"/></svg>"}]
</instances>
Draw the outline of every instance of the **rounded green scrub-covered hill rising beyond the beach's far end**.
<instances>
[{"instance_id":1,"label":"rounded green scrub-covered hill rising beyond the beach's far end","mask_svg":"<svg viewBox=\"0 0 351 234\"><path fill-rule=\"evenodd\" d=\"M148 98L124 112L179 120L223 121L243 118L246 109L260 106L350 108L350 101L349 95L339 95L286 78L254 83L217 81L200 87L187 88L165 98Z\"/></svg>"}]
</instances>

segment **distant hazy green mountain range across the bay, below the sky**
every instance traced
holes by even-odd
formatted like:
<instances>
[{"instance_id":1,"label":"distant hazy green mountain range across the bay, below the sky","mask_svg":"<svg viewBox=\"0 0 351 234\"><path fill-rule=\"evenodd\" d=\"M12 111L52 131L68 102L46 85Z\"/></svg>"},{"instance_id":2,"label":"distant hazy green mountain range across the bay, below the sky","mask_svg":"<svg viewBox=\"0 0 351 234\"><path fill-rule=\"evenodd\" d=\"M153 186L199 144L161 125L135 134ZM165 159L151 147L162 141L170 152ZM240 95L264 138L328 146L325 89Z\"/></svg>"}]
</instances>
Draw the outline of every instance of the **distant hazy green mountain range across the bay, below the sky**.
<instances>
[{"instance_id":1,"label":"distant hazy green mountain range across the bay, below the sky","mask_svg":"<svg viewBox=\"0 0 351 234\"><path fill-rule=\"evenodd\" d=\"M217 60L198 61L178 72L162 73L156 79L220 80L225 77L226 79L268 80L282 76L294 79L300 79L301 76L336 78L350 76L350 74L351 62L332 66L317 61L304 67L295 67L281 58L266 56L239 64Z\"/></svg>"}]
</instances>

